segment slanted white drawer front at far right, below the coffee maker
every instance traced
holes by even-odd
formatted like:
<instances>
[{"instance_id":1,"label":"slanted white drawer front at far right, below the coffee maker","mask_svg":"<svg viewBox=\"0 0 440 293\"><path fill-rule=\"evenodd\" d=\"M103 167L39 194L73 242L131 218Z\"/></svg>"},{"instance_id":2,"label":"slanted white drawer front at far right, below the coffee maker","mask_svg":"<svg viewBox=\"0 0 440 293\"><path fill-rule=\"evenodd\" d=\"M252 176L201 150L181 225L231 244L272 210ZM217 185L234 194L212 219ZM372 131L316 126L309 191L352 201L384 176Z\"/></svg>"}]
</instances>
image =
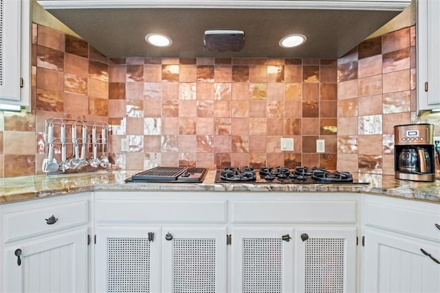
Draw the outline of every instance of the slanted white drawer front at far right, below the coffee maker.
<instances>
[{"instance_id":1,"label":"slanted white drawer front at far right, below the coffee maker","mask_svg":"<svg viewBox=\"0 0 440 293\"><path fill-rule=\"evenodd\" d=\"M411 203L408 201L408 206ZM367 202L365 224L440 242L440 230L435 226L440 225L440 205L432 206L426 210Z\"/></svg>"}]
</instances>

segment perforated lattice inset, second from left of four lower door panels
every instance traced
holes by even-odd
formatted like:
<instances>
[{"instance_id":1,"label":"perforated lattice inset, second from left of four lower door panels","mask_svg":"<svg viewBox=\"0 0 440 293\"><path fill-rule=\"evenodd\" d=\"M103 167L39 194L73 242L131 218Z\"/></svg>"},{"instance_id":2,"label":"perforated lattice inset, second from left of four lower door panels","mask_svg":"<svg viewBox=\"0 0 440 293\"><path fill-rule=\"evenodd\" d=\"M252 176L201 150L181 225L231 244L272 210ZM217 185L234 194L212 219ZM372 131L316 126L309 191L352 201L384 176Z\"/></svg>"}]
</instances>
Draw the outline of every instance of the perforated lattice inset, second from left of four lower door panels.
<instances>
[{"instance_id":1,"label":"perforated lattice inset, second from left of four lower door panels","mask_svg":"<svg viewBox=\"0 0 440 293\"><path fill-rule=\"evenodd\" d=\"M173 239L173 292L215 292L215 239Z\"/></svg>"}]
</instances>

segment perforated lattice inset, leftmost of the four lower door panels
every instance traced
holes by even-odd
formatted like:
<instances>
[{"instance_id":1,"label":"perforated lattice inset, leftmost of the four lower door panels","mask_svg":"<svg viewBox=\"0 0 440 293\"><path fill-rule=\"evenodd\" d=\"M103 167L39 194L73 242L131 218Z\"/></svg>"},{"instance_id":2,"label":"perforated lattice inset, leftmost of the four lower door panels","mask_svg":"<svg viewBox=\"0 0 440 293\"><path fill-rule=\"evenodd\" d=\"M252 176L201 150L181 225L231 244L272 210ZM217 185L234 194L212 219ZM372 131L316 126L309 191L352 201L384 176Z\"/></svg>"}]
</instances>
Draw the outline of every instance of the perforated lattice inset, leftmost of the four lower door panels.
<instances>
[{"instance_id":1,"label":"perforated lattice inset, leftmost of the four lower door panels","mask_svg":"<svg viewBox=\"0 0 440 293\"><path fill-rule=\"evenodd\" d=\"M109 238L107 249L107 292L150 292L148 238Z\"/></svg>"}]
</instances>

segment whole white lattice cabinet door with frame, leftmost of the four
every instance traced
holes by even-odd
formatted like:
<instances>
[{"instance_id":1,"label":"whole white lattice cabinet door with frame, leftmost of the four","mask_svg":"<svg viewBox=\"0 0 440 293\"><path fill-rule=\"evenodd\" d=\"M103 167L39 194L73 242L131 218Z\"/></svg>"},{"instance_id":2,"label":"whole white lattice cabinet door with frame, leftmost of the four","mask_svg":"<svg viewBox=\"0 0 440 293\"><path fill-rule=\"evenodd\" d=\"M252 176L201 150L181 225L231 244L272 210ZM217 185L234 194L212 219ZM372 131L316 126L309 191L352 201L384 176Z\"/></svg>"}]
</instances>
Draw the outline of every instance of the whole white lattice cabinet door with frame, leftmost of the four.
<instances>
[{"instance_id":1,"label":"whole white lattice cabinet door with frame, leftmost of the four","mask_svg":"<svg viewBox=\"0 0 440 293\"><path fill-rule=\"evenodd\" d=\"M160 241L157 227L98 227L96 292L160 292Z\"/></svg>"}]
</instances>

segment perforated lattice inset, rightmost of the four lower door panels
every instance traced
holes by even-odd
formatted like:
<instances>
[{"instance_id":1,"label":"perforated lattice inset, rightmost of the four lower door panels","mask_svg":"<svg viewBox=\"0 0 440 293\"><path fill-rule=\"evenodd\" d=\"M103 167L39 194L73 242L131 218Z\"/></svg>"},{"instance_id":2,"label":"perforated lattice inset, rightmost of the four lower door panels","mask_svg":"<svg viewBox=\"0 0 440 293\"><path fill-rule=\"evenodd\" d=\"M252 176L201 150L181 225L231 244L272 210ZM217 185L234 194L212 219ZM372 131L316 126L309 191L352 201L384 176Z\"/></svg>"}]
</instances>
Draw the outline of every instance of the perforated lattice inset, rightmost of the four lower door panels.
<instances>
[{"instance_id":1,"label":"perforated lattice inset, rightmost of the four lower door panels","mask_svg":"<svg viewBox=\"0 0 440 293\"><path fill-rule=\"evenodd\" d=\"M311 238L305 242L305 292L344 292L345 239Z\"/></svg>"}]
</instances>

